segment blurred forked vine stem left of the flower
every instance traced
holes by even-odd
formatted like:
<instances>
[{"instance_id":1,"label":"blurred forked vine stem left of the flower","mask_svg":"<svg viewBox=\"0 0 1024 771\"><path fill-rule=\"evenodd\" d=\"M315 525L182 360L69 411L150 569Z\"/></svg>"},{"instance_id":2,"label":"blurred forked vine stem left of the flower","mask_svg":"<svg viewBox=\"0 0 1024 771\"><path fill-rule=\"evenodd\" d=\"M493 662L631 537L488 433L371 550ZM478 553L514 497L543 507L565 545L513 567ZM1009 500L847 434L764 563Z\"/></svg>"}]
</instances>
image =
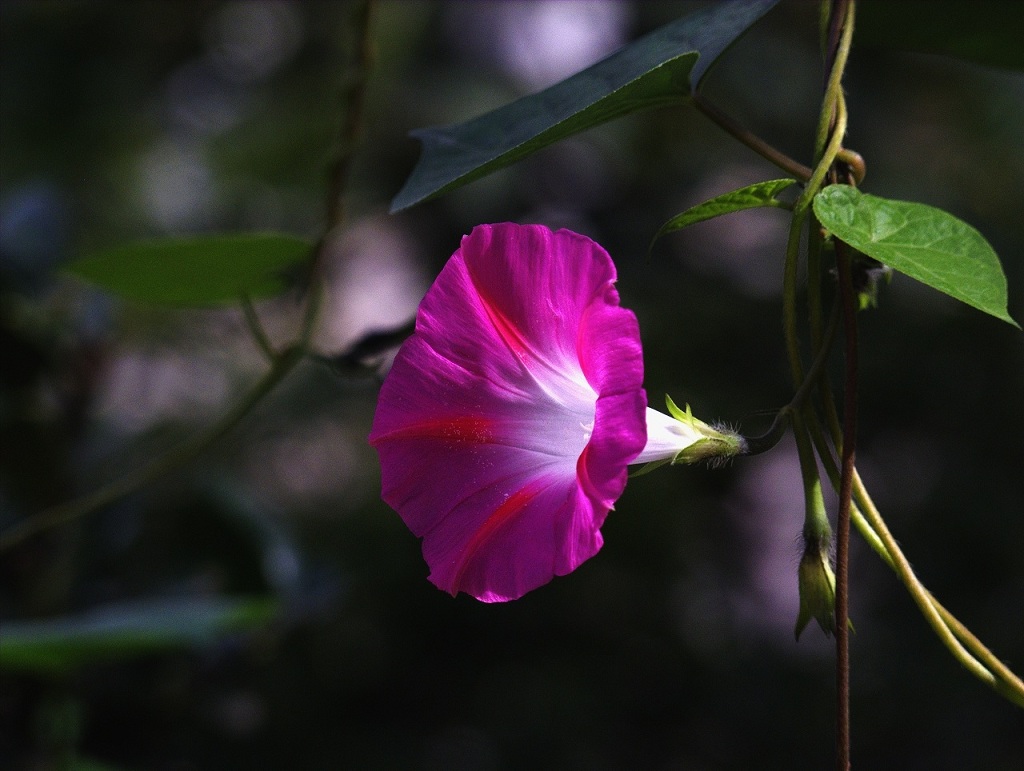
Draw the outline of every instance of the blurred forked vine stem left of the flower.
<instances>
[{"instance_id":1,"label":"blurred forked vine stem left of the flower","mask_svg":"<svg viewBox=\"0 0 1024 771\"><path fill-rule=\"evenodd\" d=\"M270 369L260 378L220 420L198 435L167 451L136 471L129 472L99 489L57 506L44 509L8 527L0 533L0 552L51 527L66 524L92 514L121 499L142 489L160 477L195 460L210 445L233 429L276 385L306 357L316 327L323 300L323 270L328 239L345 219L345 187L349 176L353 149L362 120L362 102L371 62L371 20L373 0L364 0L353 11L352 30L356 40L355 62L350 65L343 94L345 105L339 148L328 181L327 224L324 238L316 246L309 269L307 298L298 340L275 353L256 309L249 298L242 298L242 311L260 351L270 361Z\"/></svg>"}]
</instances>

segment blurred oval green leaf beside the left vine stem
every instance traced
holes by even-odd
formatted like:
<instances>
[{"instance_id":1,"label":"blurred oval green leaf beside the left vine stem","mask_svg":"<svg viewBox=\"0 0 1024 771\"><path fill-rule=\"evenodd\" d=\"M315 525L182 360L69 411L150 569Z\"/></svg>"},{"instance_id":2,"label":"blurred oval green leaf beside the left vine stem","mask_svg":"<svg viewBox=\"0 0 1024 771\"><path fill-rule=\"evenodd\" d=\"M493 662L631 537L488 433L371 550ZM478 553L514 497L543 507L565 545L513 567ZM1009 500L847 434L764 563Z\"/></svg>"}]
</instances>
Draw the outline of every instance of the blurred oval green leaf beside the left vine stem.
<instances>
[{"instance_id":1,"label":"blurred oval green leaf beside the left vine stem","mask_svg":"<svg viewBox=\"0 0 1024 771\"><path fill-rule=\"evenodd\" d=\"M312 247L294 235L238 233L116 247L66 269L129 300L196 307L281 294Z\"/></svg>"}]
</instances>

